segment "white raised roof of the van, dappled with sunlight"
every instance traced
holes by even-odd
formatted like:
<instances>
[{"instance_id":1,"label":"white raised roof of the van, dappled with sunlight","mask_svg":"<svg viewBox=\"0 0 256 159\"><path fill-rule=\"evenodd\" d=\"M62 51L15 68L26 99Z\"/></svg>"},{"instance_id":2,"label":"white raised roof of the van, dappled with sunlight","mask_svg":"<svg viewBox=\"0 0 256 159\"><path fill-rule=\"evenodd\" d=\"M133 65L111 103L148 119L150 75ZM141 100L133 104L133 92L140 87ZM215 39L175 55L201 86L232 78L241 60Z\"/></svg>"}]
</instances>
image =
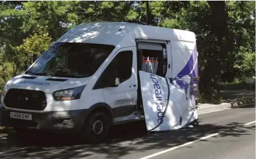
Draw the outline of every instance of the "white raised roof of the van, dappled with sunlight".
<instances>
[{"instance_id":1,"label":"white raised roof of the van, dappled with sunlight","mask_svg":"<svg viewBox=\"0 0 256 159\"><path fill-rule=\"evenodd\" d=\"M195 42L194 32L137 23L95 22L80 24L56 42L99 43L116 45L133 32L134 38Z\"/></svg>"}]
</instances>

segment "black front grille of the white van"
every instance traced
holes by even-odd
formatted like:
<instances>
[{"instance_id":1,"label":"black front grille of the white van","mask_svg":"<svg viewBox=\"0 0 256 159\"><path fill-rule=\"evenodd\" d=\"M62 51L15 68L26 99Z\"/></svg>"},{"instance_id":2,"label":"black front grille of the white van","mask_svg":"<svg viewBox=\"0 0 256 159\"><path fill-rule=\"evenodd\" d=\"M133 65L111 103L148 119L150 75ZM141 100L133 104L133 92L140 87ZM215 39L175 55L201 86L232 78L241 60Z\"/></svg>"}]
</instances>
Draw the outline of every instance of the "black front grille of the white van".
<instances>
[{"instance_id":1,"label":"black front grille of the white van","mask_svg":"<svg viewBox=\"0 0 256 159\"><path fill-rule=\"evenodd\" d=\"M10 89L4 97L4 104L9 108L44 110L47 101L43 91Z\"/></svg>"}]
</instances>

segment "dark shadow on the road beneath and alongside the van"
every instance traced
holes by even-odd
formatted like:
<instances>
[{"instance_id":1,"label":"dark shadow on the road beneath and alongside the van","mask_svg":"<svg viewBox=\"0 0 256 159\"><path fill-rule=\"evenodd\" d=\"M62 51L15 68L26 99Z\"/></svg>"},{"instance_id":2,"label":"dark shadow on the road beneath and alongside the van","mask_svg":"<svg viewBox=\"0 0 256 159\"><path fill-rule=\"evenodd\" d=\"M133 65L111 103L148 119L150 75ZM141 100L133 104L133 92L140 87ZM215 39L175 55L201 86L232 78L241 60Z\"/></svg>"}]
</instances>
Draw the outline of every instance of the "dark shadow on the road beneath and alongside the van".
<instances>
[{"instance_id":1,"label":"dark shadow on the road beneath and alongside the van","mask_svg":"<svg viewBox=\"0 0 256 159\"><path fill-rule=\"evenodd\" d=\"M144 122L135 122L127 125L112 127L109 140L102 144L81 144L79 139L72 135L44 135L39 138L36 134L20 146L32 146L20 152L0 154L0 158L85 158L92 155L101 158L121 158L135 152L145 152L151 149L168 149L189 141L220 133L217 137L249 135L249 130L255 130L255 125L244 126L238 122L227 125L203 124L189 129L180 129L170 132L146 132ZM0 138L0 142L19 145L15 134L7 139ZM207 142L207 140L204 140ZM11 144L10 144L11 143ZM1 150L2 152L3 150Z\"/></svg>"}]
</instances>

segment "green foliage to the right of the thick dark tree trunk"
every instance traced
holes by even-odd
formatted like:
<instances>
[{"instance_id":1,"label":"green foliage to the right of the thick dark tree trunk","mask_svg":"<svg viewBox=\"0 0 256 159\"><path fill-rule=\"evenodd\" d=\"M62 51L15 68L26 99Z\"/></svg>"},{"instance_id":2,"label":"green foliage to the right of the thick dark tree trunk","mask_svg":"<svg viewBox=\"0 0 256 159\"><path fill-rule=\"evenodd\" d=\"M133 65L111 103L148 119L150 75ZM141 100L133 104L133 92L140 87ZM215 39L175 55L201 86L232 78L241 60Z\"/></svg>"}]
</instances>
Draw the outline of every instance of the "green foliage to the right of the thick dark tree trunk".
<instances>
[{"instance_id":1,"label":"green foliage to the right of the thick dark tree trunk","mask_svg":"<svg viewBox=\"0 0 256 159\"><path fill-rule=\"evenodd\" d=\"M228 17L233 49L222 80L232 82L255 76L255 2L228 1Z\"/></svg>"}]
</instances>

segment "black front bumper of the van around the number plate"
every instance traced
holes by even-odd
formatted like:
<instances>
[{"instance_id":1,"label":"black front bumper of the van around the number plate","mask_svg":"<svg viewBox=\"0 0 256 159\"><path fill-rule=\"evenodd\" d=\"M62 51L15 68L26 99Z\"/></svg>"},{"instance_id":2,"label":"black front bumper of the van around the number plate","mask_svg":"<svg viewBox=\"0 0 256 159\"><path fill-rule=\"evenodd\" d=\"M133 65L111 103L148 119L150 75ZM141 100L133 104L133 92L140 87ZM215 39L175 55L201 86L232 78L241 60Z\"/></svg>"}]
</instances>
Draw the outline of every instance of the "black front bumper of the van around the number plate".
<instances>
[{"instance_id":1,"label":"black front bumper of the van around the number plate","mask_svg":"<svg viewBox=\"0 0 256 159\"><path fill-rule=\"evenodd\" d=\"M10 118L10 112L26 113L32 116L32 120ZM31 113L26 111L2 110L1 122L5 127L14 129L36 129L36 130L68 130L78 132L83 127L87 110L72 111L48 111L44 113Z\"/></svg>"}]
</instances>

